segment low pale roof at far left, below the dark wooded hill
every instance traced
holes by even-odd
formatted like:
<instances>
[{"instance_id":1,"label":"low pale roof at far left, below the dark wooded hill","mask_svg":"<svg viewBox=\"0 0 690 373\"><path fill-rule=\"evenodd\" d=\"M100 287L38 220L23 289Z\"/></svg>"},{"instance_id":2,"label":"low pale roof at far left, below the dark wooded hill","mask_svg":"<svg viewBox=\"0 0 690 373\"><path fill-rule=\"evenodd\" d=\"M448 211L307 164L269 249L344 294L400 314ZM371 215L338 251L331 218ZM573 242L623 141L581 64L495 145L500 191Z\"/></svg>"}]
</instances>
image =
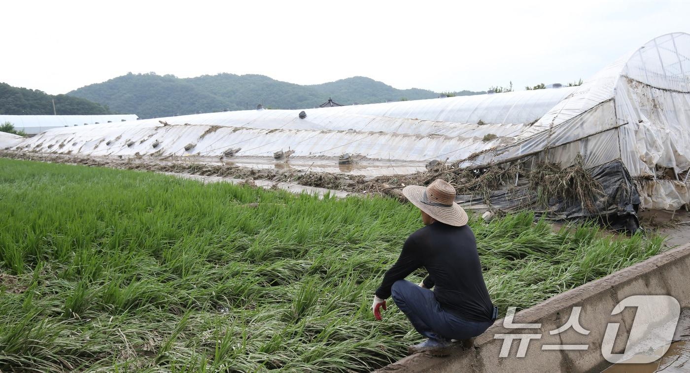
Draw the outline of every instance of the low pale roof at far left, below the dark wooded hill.
<instances>
[{"instance_id":1,"label":"low pale roof at far left, below the dark wooded hill","mask_svg":"<svg viewBox=\"0 0 690 373\"><path fill-rule=\"evenodd\" d=\"M136 121L136 114L115 115L0 115L0 123L10 122L14 129L26 134L39 134L50 128L72 127L75 125Z\"/></svg>"}]
</instances>

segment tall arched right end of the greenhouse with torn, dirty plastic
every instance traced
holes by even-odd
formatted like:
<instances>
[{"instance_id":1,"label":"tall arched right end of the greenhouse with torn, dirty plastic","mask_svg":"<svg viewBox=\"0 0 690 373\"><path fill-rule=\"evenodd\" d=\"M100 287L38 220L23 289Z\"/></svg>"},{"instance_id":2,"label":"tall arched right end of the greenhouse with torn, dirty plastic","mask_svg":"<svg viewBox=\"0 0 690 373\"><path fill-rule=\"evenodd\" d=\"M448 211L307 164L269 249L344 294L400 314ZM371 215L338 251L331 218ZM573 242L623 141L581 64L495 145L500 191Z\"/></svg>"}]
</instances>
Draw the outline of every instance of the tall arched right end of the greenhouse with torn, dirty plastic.
<instances>
[{"instance_id":1,"label":"tall arched right end of the greenhouse with torn, dirty plastic","mask_svg":"<svg viewBox=\"0 0 690 373\"><path fill-rule=\"evenodd\" d=\"M464 165L519 159L549 149L568 165L573 154L593 167L621 159L638 178L644 208L676 209L690 201L690 35L662 35L615 61L555 105L515 143ZM658 180L670 168L675 181ZM649 178L653 180L649 180Z\"/></svg>"}]
</instances>

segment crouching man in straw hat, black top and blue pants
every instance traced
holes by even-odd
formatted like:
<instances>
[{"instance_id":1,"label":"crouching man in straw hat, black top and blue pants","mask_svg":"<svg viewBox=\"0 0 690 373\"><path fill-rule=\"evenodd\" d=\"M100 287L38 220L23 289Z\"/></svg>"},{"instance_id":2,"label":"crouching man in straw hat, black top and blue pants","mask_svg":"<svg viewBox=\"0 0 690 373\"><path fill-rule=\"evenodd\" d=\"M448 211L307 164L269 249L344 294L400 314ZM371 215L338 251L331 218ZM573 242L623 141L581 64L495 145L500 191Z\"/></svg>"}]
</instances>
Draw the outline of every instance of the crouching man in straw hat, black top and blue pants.
<instances>
[{"instance_id":1,"label":"crouching man in straw hat, black top and blue pants","mask_svg":"<svg viewBox=\"0 0 690 373\"><path fill-rule=\"evenodd\" d=\"M455 188L439 179L427 188L410 185L402 192L420 208L425 226L405 241L400 258L376 290L372 310L381 320L380 308L386 310L392 295L415 330L427 338L409 352L443 356L449 354L451 340L482 334L495 321L497 308L486 290L467 214L455 203ZM422 283L405 280L422 267L428 272Z\"/></svg>"}]
</instances>

